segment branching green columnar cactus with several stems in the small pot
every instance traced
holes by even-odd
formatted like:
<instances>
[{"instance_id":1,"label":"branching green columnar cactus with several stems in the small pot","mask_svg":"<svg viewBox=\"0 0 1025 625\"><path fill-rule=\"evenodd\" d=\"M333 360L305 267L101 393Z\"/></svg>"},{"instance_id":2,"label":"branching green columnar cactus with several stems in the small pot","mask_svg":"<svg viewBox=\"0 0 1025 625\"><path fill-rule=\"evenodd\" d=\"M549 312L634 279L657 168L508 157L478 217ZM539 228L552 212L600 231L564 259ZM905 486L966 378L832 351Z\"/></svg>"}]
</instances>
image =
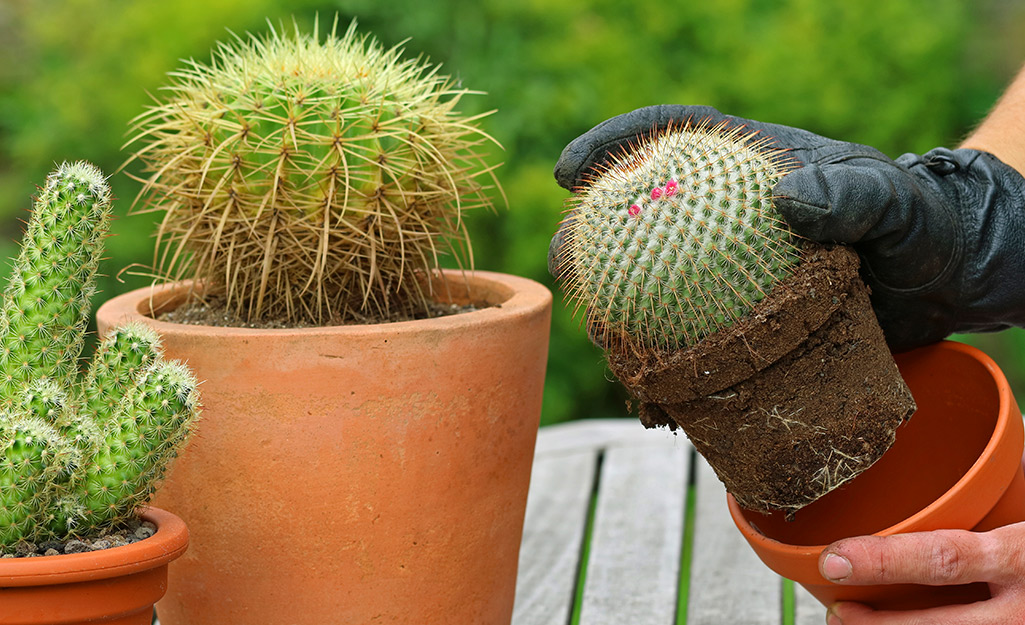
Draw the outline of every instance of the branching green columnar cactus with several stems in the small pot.
<instances>
[{"instance_id":1,"label":"branching green columnar cactus with several stems in the small pot","mask_svg":"<svg viewBox=\"0 0 1025 625\"><path fill-rule=\"evenodd\" d=\"M0 305L0 552L135 515L199 413L196 381L132 324L78 370L111 194L87 163L42 189Z\"/></svg>"}]
</instances>

